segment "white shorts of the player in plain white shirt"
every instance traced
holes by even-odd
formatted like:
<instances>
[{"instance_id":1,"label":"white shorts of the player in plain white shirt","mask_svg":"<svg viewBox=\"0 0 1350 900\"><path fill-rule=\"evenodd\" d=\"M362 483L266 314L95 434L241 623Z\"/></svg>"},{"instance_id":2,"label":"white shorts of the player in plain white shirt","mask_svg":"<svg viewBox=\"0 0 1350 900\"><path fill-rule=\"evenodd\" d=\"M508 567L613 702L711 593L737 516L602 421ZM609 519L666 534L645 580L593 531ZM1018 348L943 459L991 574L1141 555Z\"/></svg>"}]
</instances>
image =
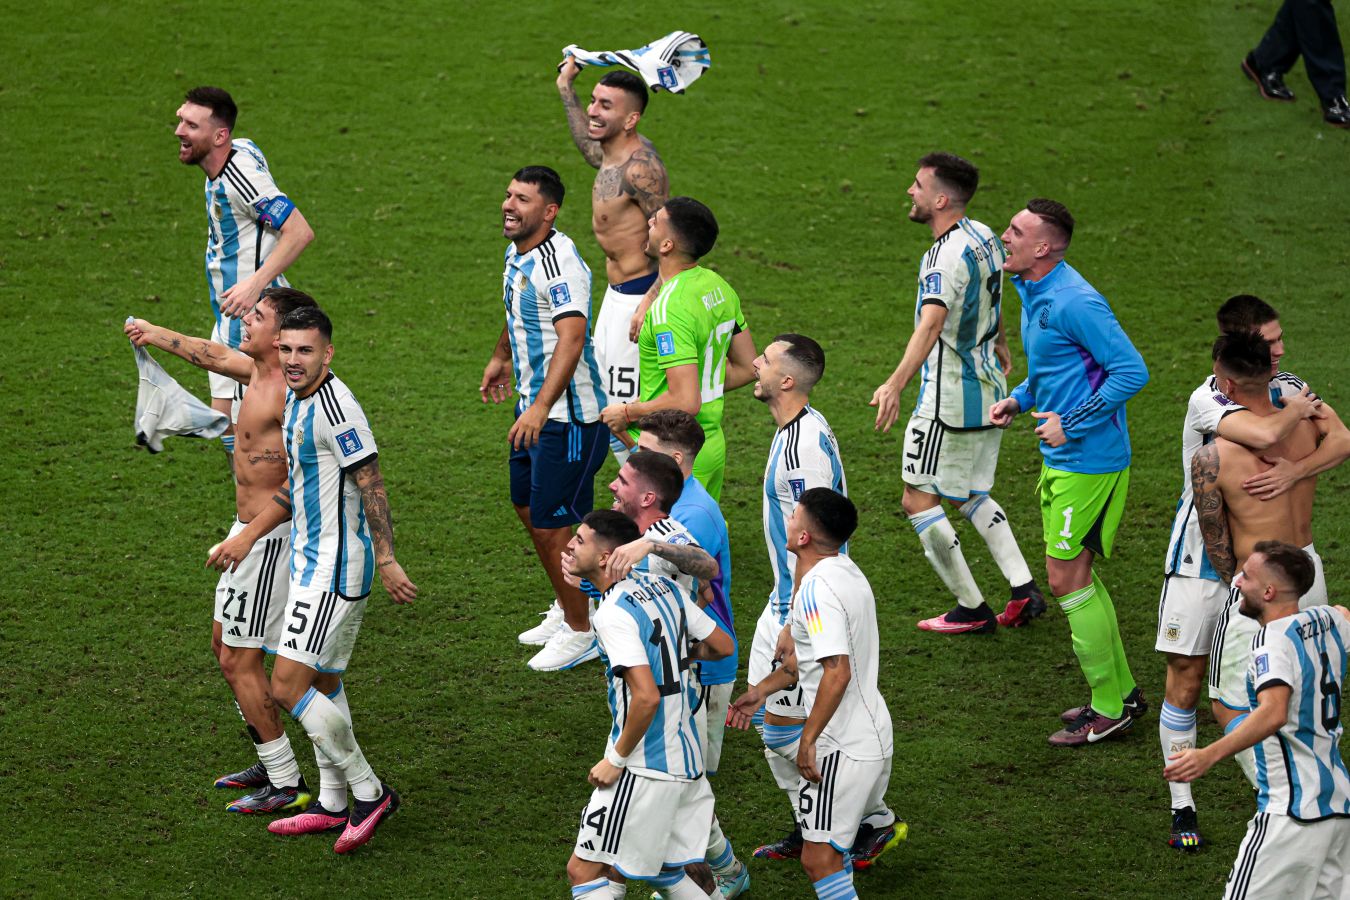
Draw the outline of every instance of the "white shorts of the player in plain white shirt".
<instances>
[{"instance_id":1,"label":"white shorts of the player in plain white shirt","mask_svg":"<svg viewBox=\"0 0 1350 900\"><path fill-rule=\"evenodd\" d=\"M819 756L815 768L819 783L802 779L796 788L796 823L803 841L848 853L863 819L887 815L894 820L886 807L891 757L864 761L834 750Z\"/></svg>"}]
</instances>

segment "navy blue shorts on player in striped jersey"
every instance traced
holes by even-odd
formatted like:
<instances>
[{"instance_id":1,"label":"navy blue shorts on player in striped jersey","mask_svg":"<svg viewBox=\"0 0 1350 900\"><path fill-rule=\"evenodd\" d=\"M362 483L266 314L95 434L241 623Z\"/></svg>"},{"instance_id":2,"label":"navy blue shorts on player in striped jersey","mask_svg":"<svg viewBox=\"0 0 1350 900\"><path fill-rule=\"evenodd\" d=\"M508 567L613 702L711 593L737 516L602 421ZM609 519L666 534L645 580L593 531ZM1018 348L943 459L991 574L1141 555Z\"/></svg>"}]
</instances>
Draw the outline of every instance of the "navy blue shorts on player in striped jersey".
<instances>
[{"instance_id":1,"label":"navy blue shorts on player in striped jersey","mask_svg":"<svg viewBox=\"0 0 1350 900\"><path fill-rule=\"evenodd\" d=\"M529 507L535 528L567 528L594 505L595 472L609 455L603 422L544 422L529 449L510 452L510 502Z\"/></svg>"}]
</instances>

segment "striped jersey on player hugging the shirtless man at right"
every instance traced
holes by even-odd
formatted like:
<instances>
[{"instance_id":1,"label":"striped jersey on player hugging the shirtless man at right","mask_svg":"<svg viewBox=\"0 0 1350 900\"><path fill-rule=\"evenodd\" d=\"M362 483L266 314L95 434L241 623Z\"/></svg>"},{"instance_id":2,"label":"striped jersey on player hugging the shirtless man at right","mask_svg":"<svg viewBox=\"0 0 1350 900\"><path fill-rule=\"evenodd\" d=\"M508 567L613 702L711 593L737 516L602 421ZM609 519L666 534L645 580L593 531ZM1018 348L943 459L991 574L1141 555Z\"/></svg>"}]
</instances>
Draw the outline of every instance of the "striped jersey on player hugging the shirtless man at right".
<instances>
[{"instance_id":1,"label":"striped jersey on player hugging the shirtless man at right","mask_svg":"<svg viewBox=\"0 0 1350 900\"><path fill-rule=\"evenodd\" d=\"M1303 382L1292 372L1280 372L1270 379L1270 401L1276 406L1284 406L1285 397L1301 390ZM1177 511L1172 519L1172 537L1168 540L1168 555L1164 561L1164 571L1168 575L1220 580L1204 552L1200 517L1195 513L1195 495L1191 488L1191 460L1196 451L1219 433L1223 417L1239 409L1246 407L1228 399L1219 390L1219 379L1214 375L1191 391L1185 422L1181 425L1181 499L1177 501Z\"/></svg>"}]
</instances>

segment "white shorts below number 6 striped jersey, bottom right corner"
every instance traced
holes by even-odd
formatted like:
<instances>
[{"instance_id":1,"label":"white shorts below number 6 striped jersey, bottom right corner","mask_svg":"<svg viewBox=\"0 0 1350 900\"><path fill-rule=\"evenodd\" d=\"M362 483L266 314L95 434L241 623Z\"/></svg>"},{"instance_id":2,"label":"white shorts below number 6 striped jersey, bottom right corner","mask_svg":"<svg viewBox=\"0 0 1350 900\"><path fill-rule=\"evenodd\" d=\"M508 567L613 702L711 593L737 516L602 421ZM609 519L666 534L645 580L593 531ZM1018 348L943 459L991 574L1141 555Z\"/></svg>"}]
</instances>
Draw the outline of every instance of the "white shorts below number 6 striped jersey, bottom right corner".
<instances>
[{"instance_id":1,"label":"white shorts below number 6 striped jersey, bottom right corner","mask_svg":"<svg viewBox=\"0 0 1350 900\"><path fill-rule=\"evenodd\" d=\"M1350 819L1257 812L1223 889L1227 900L1350 897Z\"/></svg>"}]
</instances>

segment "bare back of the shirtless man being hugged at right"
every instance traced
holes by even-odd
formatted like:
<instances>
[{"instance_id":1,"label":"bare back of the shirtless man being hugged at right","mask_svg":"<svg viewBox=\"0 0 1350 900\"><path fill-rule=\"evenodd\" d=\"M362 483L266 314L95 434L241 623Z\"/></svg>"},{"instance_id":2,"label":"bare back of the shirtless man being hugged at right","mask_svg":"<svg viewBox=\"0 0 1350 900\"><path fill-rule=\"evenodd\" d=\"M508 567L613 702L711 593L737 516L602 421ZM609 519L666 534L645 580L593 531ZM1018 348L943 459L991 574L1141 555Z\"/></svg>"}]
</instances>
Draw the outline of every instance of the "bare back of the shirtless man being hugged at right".
<instances>
[{"instance_id":1,"label":"bare back of the shirtless man being hugged at right","mask_svg":"<svg viewBox=\"0 0 1350 900\"><path fill-rule=\"evenodd\" d=\"M1312 453L1318 443L1318 426L1303 420L1266 455L1299 460ZM1318 479L1305 478L1280 497L1257 499L1242 483L1268 468L1270 464L1261 455L1223 437L1202 447L1191 461L1206 552L1226 582L1231 580L1238 560L1250 556L1261 541L1285 541L1295 546L1312 542L1312 501Z\"/></svg>"}]
</instances>

